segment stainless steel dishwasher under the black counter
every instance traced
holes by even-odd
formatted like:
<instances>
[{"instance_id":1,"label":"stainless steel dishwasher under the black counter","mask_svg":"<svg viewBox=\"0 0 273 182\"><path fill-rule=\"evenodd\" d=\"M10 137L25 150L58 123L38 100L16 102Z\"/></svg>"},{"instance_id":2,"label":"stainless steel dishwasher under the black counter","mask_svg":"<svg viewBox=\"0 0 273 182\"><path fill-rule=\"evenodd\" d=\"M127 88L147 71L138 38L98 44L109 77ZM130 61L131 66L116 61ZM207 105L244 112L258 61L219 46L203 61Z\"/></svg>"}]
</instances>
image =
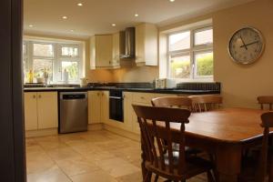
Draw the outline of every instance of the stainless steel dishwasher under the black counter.
<instances>
[{"instance_id":1,"label":"stainless steel dishwasher under the black counter","mask_svg":"<svg viewBox=\"0 0 273 182\"><path fill-rule=\"evenodd\" d=\"M59 94L59 133L86 131L88 125L86 92Z\"/></svg>"}]
</instances>

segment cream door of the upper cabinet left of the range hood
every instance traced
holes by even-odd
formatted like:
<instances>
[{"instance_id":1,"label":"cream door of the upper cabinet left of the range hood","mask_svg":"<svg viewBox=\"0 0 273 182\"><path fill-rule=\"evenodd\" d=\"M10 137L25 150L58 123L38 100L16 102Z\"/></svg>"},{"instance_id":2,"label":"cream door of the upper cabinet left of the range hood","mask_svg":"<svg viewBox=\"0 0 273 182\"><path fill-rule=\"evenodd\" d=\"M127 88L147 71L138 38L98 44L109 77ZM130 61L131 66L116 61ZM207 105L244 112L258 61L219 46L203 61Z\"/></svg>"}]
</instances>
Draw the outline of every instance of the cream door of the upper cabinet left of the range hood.
<instances>
[{"instance_id":1,"label":"cream door of the upper cabinet left of the range hood","mask_svg":"<svg viewBox=\"0 0 273 182\"><path fill-rule=\"evenodd\" d=\"M96 35L96 67L111 67L112 35Z\"/></svg>"}]
</instances>

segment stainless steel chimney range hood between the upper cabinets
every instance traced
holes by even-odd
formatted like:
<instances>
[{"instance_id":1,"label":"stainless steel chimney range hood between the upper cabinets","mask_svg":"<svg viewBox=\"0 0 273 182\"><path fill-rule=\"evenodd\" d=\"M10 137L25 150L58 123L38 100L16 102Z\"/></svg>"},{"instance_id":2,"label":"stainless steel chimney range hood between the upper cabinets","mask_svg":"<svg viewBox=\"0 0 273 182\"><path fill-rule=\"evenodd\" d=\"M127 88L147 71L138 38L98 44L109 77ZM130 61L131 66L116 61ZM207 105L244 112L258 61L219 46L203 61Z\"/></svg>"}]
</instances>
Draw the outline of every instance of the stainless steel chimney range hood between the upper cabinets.
<instances>
[{"instance_id":1,"label":"stainless steel chimney range hood between the upper cabinets","mask_svg":"<svg viewBox=\"0 0 273 182\"><path fill-rule=\"evenodd\" d=\"M135 58L136 57L136 28L135 27L127 27L125 30L125 54L121 55L121 58Z\"/></svg>"}]
</instances>

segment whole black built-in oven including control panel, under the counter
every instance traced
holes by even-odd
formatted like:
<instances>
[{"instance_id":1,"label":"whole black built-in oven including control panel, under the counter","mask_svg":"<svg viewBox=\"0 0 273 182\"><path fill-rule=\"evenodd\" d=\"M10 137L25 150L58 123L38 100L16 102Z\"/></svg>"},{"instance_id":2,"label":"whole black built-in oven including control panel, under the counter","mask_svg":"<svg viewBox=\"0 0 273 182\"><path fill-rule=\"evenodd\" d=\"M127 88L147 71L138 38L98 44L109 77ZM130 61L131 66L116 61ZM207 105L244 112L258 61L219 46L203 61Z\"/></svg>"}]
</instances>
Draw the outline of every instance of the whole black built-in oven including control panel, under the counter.
<instances>
[{"instance_id":1,"label":"whole black built-in oven including control panel, under the counter","mask_svg":"<svg viewBox=\"0 0 273 182\"><path fill-rule=\"evenodd\" d=\"M122 90L109 91L109 118L123 122L123 95Z\"/></svg>"}]
</instances>

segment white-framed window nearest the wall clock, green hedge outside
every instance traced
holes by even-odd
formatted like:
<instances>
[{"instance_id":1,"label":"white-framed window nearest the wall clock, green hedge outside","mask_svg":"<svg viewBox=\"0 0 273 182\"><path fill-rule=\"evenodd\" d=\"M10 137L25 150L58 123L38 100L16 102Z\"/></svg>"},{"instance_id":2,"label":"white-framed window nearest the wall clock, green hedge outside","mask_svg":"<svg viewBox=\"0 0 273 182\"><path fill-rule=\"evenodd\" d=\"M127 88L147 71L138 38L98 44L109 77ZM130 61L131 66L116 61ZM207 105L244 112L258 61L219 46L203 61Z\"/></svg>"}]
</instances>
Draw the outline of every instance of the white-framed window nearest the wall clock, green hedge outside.
<instances>
[{"instance_id":1,"label":"white-framed window nearest the wall clock, green hedge outside","mask_svg":"<svg viewBox=\"0 0 273 182\"><path fill-rule=\"evenodd\" d=\"M213 29L193 28L168 35L168 77L213 78Z\"/></svg>"}]
</instances>

